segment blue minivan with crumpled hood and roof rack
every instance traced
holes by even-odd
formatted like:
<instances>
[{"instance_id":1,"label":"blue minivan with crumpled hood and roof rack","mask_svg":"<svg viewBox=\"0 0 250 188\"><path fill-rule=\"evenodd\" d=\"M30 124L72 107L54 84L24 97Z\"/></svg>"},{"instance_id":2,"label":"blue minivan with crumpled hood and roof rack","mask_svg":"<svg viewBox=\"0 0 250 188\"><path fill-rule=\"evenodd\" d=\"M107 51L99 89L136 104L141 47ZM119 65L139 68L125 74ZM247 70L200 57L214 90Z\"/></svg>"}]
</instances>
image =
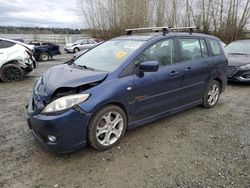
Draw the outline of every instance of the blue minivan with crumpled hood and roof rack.
<instances>
[{"instance_id":1,"label":"blue minivan with crumpled hood and roof rack","mask_svg":"<svg viewBox=\"0 0 250 188\"><path fill-rule=\"evenodd\" d=\"M27 106L36 140L60 153L86 145L106 150L129 128L200 104L214 107L226 86L219 39L160 29L127 30L44 73Z\"/></svg>"}]
</instances>

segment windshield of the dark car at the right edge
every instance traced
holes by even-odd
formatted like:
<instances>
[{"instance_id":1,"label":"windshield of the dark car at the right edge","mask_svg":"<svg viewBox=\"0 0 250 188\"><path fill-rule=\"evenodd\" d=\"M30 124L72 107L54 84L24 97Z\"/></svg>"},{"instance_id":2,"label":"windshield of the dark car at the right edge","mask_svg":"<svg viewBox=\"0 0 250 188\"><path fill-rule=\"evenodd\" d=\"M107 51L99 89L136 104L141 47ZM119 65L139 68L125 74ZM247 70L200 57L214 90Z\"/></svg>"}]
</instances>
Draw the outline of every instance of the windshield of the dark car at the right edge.
<instances>
[{"instance_id":1,"label":"windshield of the dark car at the right edge","mask_svg":"<svg viewBox=\"0 0 250 188\"><path fill-rule=\"evenodd\" d=\"M225 50L228 54L250 54L250 42L233 42L229 44Z\"/></svg>"}]
</instances>

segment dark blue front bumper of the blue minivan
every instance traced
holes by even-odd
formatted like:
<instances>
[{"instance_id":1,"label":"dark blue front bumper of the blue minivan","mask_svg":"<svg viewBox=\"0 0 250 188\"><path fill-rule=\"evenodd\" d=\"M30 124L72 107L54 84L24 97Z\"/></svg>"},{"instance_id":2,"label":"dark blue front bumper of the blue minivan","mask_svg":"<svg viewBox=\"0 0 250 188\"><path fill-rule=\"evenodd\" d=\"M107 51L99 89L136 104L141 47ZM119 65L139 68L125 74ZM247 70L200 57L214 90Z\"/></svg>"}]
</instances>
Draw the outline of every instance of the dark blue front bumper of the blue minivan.
<instances>
[{"instance_id":1,"label":"dark blue front bumper of the blue minivan","mask_svg":"<svg viewBox=\"0 0 250 188\"><path fill-rule=\"evenodd\" d=\"M35 139L45 149L68 153L86 146L91 114L72 108L61 114L44 115L35 112L33 106L34 98L26 106L26 119Z\"/></svg>"}]
</instances>

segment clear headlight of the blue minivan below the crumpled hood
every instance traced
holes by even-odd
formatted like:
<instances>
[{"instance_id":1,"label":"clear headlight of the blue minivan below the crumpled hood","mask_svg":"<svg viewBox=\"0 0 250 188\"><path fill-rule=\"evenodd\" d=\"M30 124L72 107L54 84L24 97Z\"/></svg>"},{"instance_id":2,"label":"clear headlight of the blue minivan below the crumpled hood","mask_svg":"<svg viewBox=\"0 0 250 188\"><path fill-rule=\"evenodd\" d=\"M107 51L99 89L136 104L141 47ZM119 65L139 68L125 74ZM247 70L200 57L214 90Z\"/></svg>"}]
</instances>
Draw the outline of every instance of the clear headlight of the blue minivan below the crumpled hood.
<instances>
[{"instance_id":1,"label":"clear headlight of the blue minivan below the crumpled hood","mask_svg":"<svg viewBox=\"0 0 250 188\"><path fill-rule=\"evenodd\" d=\"M76 104L86 101L90 94L76 94L61 97L49 103L42 111L42 113L59 112L73 107Z\"/></svg>"}]
</instances>

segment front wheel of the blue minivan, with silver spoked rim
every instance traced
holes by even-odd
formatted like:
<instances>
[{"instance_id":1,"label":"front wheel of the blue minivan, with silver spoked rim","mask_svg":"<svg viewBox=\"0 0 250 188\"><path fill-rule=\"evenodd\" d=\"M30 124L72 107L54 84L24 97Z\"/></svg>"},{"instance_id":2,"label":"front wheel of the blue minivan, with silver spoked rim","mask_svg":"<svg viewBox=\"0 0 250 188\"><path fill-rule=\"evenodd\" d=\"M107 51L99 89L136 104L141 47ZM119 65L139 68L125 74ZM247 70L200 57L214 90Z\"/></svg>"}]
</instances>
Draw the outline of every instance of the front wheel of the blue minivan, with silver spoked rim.
<instances>
[{"instance_id":1,"label":"front wheel of the blue minivan, with silver spoked rim","mask_svg":"<svg viewBox=\"0 0 250 188\"><path fill-rule=\"evenodd\" d=\"M90 121L87 132L88 144L101 151L110 149L121 140L126 128L127 116L120 107L103 107Z\"/></svg>"}]
</instances>

